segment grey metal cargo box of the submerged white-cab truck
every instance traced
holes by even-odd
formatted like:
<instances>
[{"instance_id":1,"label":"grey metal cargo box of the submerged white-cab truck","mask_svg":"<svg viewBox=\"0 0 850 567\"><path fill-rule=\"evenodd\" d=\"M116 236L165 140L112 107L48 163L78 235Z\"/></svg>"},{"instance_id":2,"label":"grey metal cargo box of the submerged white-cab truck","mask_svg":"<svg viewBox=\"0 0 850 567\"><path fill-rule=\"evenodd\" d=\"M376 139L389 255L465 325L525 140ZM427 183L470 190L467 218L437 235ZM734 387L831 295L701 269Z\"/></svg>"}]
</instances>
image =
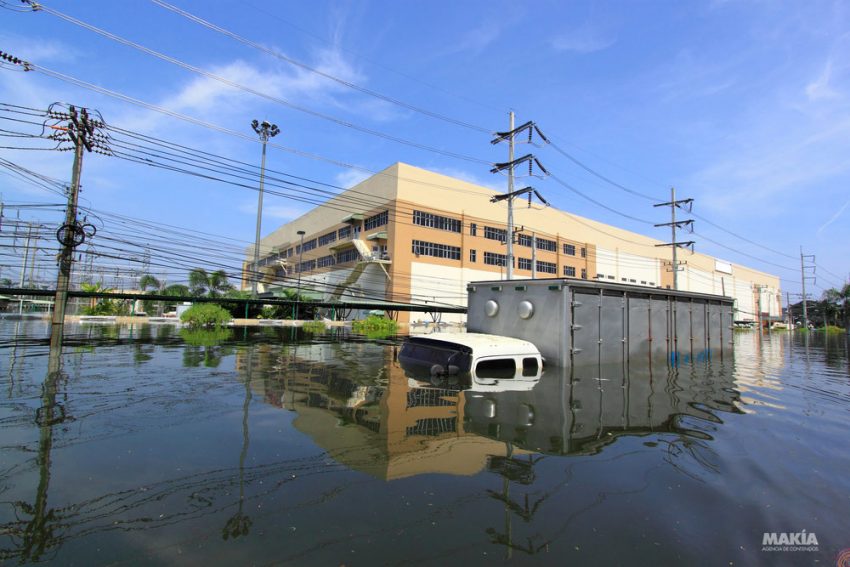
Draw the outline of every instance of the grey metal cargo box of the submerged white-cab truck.
<instances>
[{"instance_id":1,"label":"grey metal cargo box of the submerged white-cab truck","mask_svg":"<svg viewBox=\"0 0 850 567\"><path fill-rule=\"evenodd\" d=\"M469 288L470 331L531 341L549 364L676 365L722 359L730 349L731 298L560 278ZM494 315L488 301L498 304ZM519 316L522 302L533 306L531 317Z\"/></svg>"}]
</instances>

